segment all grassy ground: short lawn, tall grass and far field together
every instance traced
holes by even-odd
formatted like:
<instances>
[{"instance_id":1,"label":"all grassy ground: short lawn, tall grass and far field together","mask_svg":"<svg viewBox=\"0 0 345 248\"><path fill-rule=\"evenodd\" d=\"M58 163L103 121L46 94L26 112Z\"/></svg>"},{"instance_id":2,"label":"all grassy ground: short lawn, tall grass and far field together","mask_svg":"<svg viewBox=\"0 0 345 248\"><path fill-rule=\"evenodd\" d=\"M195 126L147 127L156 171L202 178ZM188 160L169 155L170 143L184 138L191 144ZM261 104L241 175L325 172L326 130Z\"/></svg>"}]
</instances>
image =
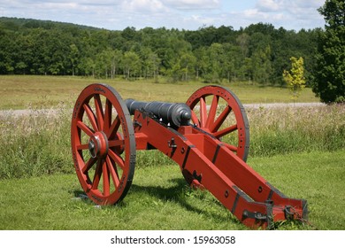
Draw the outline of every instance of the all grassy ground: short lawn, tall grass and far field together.
<instances>
[{"instance_id":1,"label":"all grassy ground: short lawn, tall grass and far field together","mask_svg":"<svg viewBox=\"0 0 345 248\"><path fill-rule=\"evenodd\" d=\"M28 108L25 115L11 110L0 115L0 229L246 229L207 191L189 189L180 168L157 151L138 152L134 183L120 205L97 208L80 198L70 152L71 107L93 81L0 76L0 109ZM204 85L105 82L123 98L174 102ZM245 103L291 102L288 89L226 87ZM317 101L308 90L300 100ZM262 107L247 113L249 165L310 206L312 226L289 222L277 228L345 229L344 106Z\"/></svg>"}]
</instances>

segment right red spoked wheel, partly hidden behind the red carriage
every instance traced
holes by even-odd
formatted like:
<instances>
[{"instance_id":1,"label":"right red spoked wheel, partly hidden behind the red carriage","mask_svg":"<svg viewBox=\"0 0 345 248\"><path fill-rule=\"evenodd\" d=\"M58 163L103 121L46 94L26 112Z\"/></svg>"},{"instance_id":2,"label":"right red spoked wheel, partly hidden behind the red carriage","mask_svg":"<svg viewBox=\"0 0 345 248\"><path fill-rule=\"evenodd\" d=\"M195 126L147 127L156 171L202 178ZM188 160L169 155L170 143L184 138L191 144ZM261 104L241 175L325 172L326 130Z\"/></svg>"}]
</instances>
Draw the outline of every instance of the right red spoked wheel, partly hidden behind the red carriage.
<instances>
[{"instance_id":1,"label":"right red spoked wheel, partly hidden behind the red carriage","mask_svg":"<svg viewBox=\"0 0 345 248\"><path fill-rule=\"evenodd\" d=\"M186 103L192 110L197 128L226 143L238 157L246 161L249 152L249 122L240 100L220 86L197 89Z\"/></svg>"}]
</instances>

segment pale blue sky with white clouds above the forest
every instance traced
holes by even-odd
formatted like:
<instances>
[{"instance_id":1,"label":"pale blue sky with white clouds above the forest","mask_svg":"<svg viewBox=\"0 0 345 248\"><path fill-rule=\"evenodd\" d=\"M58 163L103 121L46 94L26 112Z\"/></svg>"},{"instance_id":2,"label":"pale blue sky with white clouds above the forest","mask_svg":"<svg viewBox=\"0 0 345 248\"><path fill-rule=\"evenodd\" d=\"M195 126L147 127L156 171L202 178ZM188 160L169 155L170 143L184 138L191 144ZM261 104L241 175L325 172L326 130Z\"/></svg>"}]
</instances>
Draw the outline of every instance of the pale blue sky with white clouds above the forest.
<instances>
[{"instance_id":1,"label":"pale blue sky with white clouds above the forest","mask_svg":"<svg viewBox=\"0 0 345 248\"><path fill-rule=\"evenodd\" d=\"M325 0L0 0L0 16L45 19L109 30L208 26L248 27L258 22L288 30L324 27Z\"/></svg>"}]
</instances>

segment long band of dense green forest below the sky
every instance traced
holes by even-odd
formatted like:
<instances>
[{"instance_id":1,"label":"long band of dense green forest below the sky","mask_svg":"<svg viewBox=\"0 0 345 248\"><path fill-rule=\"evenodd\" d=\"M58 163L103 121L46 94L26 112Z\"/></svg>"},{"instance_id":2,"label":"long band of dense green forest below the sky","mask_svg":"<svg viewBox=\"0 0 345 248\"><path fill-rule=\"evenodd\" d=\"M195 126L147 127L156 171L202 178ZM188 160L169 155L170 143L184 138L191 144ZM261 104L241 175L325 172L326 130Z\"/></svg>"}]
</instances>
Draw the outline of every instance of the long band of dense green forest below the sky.
<instances>
[{"instance_id":1,"label":"long band of dense green forest below the sky","mask_svg":"<svg viewBox=\"0 0 345 248\"><path fill-rule=\"evenodd\" d=\"M255 81L283 85L290 58L315 68L322 28L257 23L197 30L106 30L37 19L0 18L0 74L80 75L126 80Z\"/></svg>"}]
</instances>

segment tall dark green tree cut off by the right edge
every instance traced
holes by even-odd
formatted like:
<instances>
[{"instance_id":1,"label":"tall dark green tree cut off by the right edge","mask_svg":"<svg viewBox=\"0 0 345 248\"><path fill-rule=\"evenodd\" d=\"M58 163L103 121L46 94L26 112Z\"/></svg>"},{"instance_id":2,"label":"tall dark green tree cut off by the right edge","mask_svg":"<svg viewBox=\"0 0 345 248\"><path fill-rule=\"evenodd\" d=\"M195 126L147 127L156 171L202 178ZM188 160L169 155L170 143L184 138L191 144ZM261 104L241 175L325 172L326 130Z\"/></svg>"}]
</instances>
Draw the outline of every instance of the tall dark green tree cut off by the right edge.
<instances>
[{"instance_id":1,"label":"tall dark green tree cut off by the right edge","mask_svg":"<svg viewBox=\"0 0 345 248\"><path fill-rule=\"evenodd\" d=\"M313 91L324 103L345 102L345 3L326 0L318 9L326 20L326 32L318 41Z\"/></svg>"}]
</instances>

